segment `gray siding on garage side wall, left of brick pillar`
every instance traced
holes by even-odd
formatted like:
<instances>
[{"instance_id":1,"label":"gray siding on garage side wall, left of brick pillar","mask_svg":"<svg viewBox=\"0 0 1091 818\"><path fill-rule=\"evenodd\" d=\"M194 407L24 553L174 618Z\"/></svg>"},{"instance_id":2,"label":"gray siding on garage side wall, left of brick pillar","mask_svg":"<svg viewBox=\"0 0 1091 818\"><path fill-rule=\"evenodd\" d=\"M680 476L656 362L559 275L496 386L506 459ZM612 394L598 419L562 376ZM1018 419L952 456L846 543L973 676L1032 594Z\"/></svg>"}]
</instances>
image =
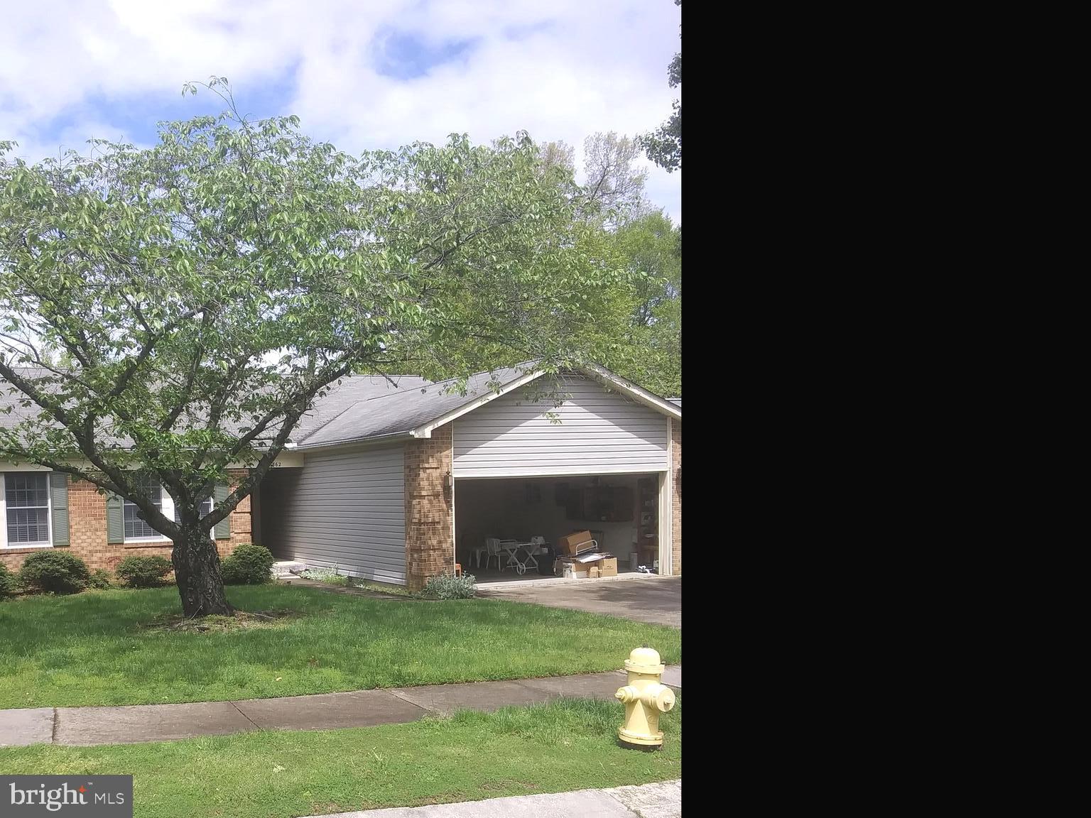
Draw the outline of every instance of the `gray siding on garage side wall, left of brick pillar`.
<instances>
[{"instance_id":1,"label":"gray siding on garage side wall, left of brick pillar","mask_svg":"<svg viewBox=\"0 0 1091 818\"><path fill-rule=\"evenodd\" d=\"M279 560L404 585L404 447L308 452L262 482L262 517Z\"/></svg>"}]
</instances>

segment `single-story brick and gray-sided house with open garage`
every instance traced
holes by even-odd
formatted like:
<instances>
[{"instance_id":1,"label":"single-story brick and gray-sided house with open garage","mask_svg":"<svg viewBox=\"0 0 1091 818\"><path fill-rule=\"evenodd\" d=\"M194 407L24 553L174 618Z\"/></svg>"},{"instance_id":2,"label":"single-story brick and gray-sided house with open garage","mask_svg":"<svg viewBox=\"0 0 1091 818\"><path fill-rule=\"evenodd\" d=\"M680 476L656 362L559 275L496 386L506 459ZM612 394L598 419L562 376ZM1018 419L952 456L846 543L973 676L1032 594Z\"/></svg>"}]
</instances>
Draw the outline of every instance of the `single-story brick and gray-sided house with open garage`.
<instances>
[{"instance_id":1,"label":"single-story brick and gray-sided house with open garage","mask_svg":"<svg viewBox=\"0 0 1091 818\"><path fill-rule=\"evenodd\" d=\"M220 554L260 542L281 560L416 589L455 563L473 569L485 538L552 542L587 529L623 570L632 552L682 573L680 401L597 366L500 370L467 387L345 378L217 527ZM27 465L0 472L9 567L39 548L108 569L130 553L169 555L135 507L86 481Z\"/></svg>"}]
</instances>

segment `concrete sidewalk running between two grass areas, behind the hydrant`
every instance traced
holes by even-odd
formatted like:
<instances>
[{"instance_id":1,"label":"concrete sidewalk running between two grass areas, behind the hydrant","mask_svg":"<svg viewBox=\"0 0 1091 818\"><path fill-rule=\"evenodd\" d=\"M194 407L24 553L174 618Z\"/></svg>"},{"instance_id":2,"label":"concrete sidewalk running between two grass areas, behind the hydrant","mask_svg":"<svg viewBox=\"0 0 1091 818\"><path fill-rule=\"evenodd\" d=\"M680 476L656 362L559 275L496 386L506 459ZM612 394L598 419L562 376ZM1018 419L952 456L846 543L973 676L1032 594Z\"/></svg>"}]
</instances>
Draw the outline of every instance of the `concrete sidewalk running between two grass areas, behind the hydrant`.
<instances>
[{"instance_id":1,"label":"concrete sidewalk running between two grass areas, behind the hydrant","mask_svg":"<svg viewBox=\"0 0 1091 818\"><path fill-rule=\"evenodd\" d=\"M240 701L133 707L59 707L0 710L0 747L29 744L136 744L250 730L338 730L396 724L455 710L491 712L561 696L613 699L622 671L579 676L470 682L382 690L327 693ZM663 684L682 689L682 665L669 665Z\"/></svg>"}]
</instances>

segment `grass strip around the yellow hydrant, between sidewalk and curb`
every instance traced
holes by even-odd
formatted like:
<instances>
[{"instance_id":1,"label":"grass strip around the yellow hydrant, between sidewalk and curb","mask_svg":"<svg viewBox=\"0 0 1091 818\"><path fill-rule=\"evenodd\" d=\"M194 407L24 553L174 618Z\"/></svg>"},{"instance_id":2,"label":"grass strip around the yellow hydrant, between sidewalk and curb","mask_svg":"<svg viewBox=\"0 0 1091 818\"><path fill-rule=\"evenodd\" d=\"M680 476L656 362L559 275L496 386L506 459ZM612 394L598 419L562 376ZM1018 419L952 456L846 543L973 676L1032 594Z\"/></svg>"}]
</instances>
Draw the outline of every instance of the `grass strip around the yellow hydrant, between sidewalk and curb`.
<instances>
[{"instance_id":1,"label":"grass strip around the yellow hydrant, between sidewalk and curb","mask_svg":"<svg viewBox=\"0 0 1091 818\"><path fill-rule=\"evenodd\" d=\"M623 712L562 699L356 730L0 748L0 773L132 774L135 815L154 818L290 818L680 778L681 696L660 720L659 751L618 745Z\"/></svg>"}]
</instances>

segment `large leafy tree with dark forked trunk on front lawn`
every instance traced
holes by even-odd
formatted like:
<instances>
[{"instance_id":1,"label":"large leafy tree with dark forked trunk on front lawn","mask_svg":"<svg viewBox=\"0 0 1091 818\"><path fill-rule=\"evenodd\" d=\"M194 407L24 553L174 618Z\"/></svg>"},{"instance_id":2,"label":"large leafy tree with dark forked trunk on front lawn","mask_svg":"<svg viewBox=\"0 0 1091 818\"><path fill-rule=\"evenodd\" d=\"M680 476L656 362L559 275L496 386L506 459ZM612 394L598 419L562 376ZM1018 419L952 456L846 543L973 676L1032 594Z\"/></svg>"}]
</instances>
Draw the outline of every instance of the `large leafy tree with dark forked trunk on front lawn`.
<instances>
[{"instance_id":1,"label":"large leafy tree with dark forked trunk on front lawn","mask_svg":"<svg viewBox=\"0 0 1091 818\"><path fill-rule=\"evenodd\" d=\"M0 378L23 407L0 457L135 504L175 543L187 616L231 611L209 532L338 378L577 362L574 328L626 275L526 134L352 157L206 87L229 110L152 148L27 165L0 143Z\"/></svg>"}]
</instances>

